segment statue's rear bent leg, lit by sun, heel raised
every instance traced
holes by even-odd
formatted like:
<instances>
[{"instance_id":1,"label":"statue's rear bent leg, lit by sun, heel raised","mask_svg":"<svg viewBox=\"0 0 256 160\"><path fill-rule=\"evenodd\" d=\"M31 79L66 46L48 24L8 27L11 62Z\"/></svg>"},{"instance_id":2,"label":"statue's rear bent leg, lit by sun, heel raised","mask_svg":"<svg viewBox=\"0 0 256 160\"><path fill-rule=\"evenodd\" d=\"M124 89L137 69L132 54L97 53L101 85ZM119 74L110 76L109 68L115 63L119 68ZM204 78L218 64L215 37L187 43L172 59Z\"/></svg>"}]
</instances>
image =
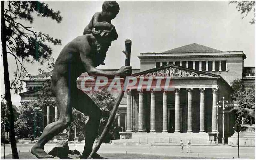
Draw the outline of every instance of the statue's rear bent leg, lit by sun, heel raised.
<instances>
[{"instance_id":1,"label":"statue's rear bent leg, lit by sun, heel raised","mask_svg":"<svg viewBox=\"0 0 256 160\"><path fill-rule=\"evenodd\" d=\"M34 154L37 158L53 157L51 155L48 155L44 151L44 145L49 140L51 140L54 136L56 136L58 133L63 131L65 128L67 128L71 123L72 105L70 101L69 89L67 86L63 84L65 84L65 82L62 80L59 80L57 85L54 87L56 88L55 96L56 96L57 108L60 113L59 120L48 124L44 128L42 135L40 136L36 144L31 149L31 153Z\"/></svg>"}]
</instances>

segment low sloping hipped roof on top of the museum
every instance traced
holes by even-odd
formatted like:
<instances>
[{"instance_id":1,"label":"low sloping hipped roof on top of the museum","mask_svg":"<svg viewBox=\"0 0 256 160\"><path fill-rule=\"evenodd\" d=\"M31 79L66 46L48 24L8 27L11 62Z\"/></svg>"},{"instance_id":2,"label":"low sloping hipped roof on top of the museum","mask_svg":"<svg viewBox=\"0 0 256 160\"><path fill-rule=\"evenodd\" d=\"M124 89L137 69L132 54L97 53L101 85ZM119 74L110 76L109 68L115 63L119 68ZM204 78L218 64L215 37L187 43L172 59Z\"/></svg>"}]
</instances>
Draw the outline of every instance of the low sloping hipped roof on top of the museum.
<instances>
[{"instance_id":1,"label":"low sloping hipped roof on top of the museum","mask_svg":"<svg viewBox=\"0 0 256 160\"><path fill-rule=\"evenodd\" d=\"M189 45L184 45L182 47L174 48L163 53L180 53L180 52L222 52L220 50L206 47L204 45L199 45L197 43L192 43Z\"/></svg>"}]
</instances>

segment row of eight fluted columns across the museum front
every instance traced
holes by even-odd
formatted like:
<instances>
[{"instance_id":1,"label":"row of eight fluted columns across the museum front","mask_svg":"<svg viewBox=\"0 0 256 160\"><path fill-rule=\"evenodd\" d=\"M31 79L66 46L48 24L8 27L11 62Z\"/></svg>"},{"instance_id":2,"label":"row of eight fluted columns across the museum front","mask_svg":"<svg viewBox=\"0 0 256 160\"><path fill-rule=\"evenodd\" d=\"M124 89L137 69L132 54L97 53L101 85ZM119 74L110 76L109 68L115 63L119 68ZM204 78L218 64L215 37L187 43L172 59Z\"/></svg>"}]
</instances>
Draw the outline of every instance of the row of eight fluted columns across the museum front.
<instances>
[{"instance_id":1,"label":"row of eight fluted columns across the museum front","mask_svg":"<svg viewBox=\"0 0 256 160\"><path fill-rule=\"evenodd\" d=\"M192 133L192 91L193 88L187 88L188 94L188 118L187 118L187 133ZM205 131L205 88L199 88L200 91L200 133ZM168 110L167 110L167 91L163 92L163 130L162 133L167 133L168 128ZM143 100L143 90L139 91L139 113L138 113L138 132L146 132L145 128L145 110L144 110L144 100ZM131 132L132 128L133 112L132 112L132 95L131 90L127 91L127 108L126 108L126 132ZM215 107L218 98L218 88L212 88L212 132L217 132L217 108ZM175 89L175 133L180 133L180 88ZM150 132L156 132L156 100L155 91L151 90L150 93Z\"/></svg>"}]
</instances>

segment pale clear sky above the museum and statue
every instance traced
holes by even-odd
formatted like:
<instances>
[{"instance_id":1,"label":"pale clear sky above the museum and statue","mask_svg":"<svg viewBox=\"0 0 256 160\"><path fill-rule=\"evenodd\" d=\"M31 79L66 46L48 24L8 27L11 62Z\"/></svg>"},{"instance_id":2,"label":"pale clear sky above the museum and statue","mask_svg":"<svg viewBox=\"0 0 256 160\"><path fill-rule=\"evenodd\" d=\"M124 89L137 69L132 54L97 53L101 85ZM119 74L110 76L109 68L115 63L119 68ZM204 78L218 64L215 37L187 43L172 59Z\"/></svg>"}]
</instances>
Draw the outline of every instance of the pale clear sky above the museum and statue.
<instances>
[{"instance_id":1,"label":"pale clear sky above the museum and statue","mask_svg":"<svg viewBox=\"0 0 256 160\"><path fill-rule=\"evenodd\" d=\"M62 40L62 45L52 46L56 59L62 48L77 36L83 35L85 26L95 12L100 12L103 1L44 1L54 11L60 10L63 20L57 23L50 18L36 15L34 31L45 32ZM117 1L119 14L112 20L118 39L112 42L107 52L105 66L99 69L119 69L125 64L124 40L131 39L131 66L140 68L140 53L164 52L191 43L197 43L221 51L243 51L244 66L255 66L255 24L228 1ZM16 69L9 58L10 79ZM1 57L2 61L2 57ZM2 66L1 66L2 67ZM45 71L46 65L26 64L30 74ZM25 85L24 85L24 90ZM4 93L3 69L1 69L1 94ZM20 96L12 93L14 105L20 105Z\"/></svg>"}]
</instances>

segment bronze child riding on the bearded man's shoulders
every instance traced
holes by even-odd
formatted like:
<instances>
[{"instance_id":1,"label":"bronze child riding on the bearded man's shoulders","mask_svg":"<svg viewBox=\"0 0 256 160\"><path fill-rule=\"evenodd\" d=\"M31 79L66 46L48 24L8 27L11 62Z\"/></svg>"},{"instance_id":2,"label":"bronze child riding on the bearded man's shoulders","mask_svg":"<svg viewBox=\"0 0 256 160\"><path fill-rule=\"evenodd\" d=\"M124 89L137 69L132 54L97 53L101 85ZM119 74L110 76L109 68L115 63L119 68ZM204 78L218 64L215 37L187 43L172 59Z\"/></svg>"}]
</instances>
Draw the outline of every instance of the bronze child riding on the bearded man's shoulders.
<instances>
[{"instance_id":1,"label":"bronze child riding on the bearded man's shoulders","mask_svg":"<svg viewBox=\"0 0 256 160\"><path fill-rule=\"evenodd\" d=\"M102 11L96 12L89 24L84 28L84 35L92 33L92 28L96 30L111 30L115 28L111 24L111 20L119 13L119 5L116 1L104 1L102 4Z\"/></svg>"}]
</instances>

